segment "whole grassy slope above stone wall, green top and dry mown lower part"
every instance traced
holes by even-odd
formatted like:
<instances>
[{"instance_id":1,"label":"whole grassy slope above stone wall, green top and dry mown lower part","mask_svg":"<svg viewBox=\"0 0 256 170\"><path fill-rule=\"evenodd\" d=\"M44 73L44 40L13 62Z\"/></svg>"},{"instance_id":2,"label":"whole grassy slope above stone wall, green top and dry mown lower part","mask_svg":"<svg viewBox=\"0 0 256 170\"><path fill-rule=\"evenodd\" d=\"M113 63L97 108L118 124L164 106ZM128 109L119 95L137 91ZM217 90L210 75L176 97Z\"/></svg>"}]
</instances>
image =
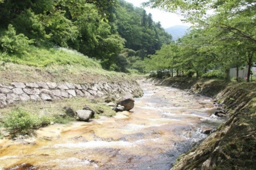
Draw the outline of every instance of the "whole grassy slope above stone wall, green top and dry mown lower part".
<instances>
[{"instance_id":1,"label":"whole grassy slope above stone wall, green top and dry mown lower part","mask_svg":"<svg viewBox=\"0 0 256 170\"><path fill-rule=\"evenodd\" d=\"M5 62L3 66L3 62ZM99 61L64 48L34 47L23 55L0 54L1 83L11 82L69 82L90 83L129 79L124 73L106 71Z\"/></svg>"}]
</instances>

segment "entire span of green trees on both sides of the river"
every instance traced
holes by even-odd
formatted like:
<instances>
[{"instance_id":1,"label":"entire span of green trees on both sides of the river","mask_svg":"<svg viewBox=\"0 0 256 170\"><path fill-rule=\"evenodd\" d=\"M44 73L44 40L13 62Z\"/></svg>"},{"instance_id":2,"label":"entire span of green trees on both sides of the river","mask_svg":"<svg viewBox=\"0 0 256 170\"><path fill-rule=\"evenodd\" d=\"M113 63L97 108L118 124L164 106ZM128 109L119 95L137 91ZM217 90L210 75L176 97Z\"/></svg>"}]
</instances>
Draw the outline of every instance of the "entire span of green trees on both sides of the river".
<instances>
[{"instance_id":1,"label":"entire span of green trees on both sides of the river","mask_svg":"<svg viewBox=\"0 0 256 170\"><path fill-rule=\"evenodd\" d=\"M249 67L249 81L255 65L255 1L150 0L143 5L179 13L193 26L172 41L150 13L124 0L0 0L0 60L37 65L46 56L43 50L58 46L94 58L106 70L230 79L229 69L236 68L239 81L238 70Z\"/></svg>"}]
</instances>

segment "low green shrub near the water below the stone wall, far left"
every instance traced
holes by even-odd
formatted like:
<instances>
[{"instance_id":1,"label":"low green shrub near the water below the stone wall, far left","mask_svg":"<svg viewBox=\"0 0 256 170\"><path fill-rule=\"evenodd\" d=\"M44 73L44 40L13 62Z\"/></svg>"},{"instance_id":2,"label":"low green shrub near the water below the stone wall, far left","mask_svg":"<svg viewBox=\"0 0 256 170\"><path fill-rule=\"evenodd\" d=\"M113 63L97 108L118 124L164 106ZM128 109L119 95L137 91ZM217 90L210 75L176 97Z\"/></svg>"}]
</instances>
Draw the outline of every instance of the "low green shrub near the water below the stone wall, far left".
<instances>
[{"instance_id":1,"label":"low green shrub near the water below the stone wall, far left","mask_svg":"<svg viewBox=\"0 0 256 170\"><path fill-rule=\"evenodd\" d=\"M26 110L17 108L4 119L4 127L10 132L21 132L32 129L40 123L36 115L32 115Z\"/></svg>"}]
</instances>

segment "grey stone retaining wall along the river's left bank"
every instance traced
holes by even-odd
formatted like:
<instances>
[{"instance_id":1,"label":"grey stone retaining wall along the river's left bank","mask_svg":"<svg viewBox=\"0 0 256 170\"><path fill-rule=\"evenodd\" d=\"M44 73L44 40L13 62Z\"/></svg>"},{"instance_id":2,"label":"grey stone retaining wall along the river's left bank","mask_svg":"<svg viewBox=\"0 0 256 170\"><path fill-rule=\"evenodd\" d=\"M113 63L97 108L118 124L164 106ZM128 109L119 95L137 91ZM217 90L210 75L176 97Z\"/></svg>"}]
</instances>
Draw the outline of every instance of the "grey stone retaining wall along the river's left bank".
<instances>
[{"instance_id":1,"label":"grey stone retaining wall along the river's left bank","mask_svg":"<svg viewBox=\"0 0 256 170\"><path fill-rule=\"evenodd\" d=\"M116 98L132 94L135 97L142 96L143 91L136 81L122 81L117 83L52 83L36 82L11 84L0 83L0 108L18 101L53 101L72 97L102 97L113 95Z\"/></svg>"}]
</instances>

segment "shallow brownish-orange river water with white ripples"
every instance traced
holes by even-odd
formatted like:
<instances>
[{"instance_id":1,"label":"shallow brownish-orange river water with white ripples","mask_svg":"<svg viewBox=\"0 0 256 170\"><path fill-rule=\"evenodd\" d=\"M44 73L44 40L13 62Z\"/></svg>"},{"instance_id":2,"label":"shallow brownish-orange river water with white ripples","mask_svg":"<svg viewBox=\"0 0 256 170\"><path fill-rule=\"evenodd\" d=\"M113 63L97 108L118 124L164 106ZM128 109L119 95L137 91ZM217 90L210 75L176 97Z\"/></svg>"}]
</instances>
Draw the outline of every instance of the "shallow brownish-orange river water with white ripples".
<instances>
[{"instance_id":1,"label":"shallow brownish-orange river water with white ripples","mask_svg":"<svg viewBox=\"0 0 256 170\"><path fill-rule=\"evenodd\" d=\"M0 169L168 170L179 154L206 137L202 129L222 122L211 114L208 97L172 87L141 87L145 94L130 112L55 124L25 140L1 140Z\"/></svg>"}]
</instances>

